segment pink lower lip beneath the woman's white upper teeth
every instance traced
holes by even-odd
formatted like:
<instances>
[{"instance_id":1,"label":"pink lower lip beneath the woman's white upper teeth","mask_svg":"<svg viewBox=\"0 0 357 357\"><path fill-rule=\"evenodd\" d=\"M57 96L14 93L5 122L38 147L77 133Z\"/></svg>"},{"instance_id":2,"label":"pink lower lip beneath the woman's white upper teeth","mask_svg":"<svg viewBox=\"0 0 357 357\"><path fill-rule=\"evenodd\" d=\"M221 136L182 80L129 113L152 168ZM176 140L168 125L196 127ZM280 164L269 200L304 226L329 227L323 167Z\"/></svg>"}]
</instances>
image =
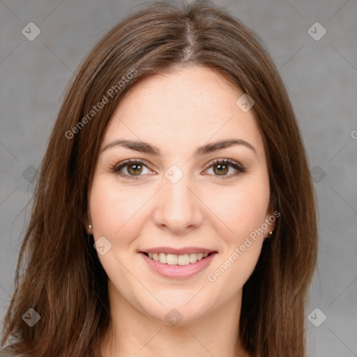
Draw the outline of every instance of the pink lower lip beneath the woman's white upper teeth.
<instances>
[{"instance_id":1,"label":"pink lower lip beneath the woman's white upper teeth","mask_svg":"<svg viewBox=\"0 0 357 357\"><path fill-rule=\"evenodd\" d=\"M170 265L170 264L162 264L160 261L155 261L150 259L144 253L140 253L143 257L144 261L156 272L162 275L164 278L176 278L176 279L184 279L190 278L192 275L203 271L204 268L211 263L213 257L215 257L217 253L211 253L208 257L203 258L201 260L197 260L195 263L190 263L187 265Z\"/></svg>"}]
</instances>

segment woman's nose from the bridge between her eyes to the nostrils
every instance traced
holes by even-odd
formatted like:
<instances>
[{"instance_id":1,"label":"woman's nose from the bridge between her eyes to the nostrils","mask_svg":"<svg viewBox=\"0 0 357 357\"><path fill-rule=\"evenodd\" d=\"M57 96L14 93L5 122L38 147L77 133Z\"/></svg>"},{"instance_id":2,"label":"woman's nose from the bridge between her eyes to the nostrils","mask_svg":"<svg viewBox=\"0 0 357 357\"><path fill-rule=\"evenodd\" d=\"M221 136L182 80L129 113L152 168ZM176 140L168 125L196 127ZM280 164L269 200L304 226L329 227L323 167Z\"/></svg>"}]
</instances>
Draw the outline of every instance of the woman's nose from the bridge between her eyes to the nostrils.
<instances>
[{"instance_id":1,"label":"woman's nose from the bridge between her eyes to the nostrils","mask_svg":"<svg viewBox=\"0 0 357 357\"><path fill-rule=\"evenodd\" d=\"M172 165L162 177L160 202L156 206L155 223L165 225L173 231L181 231L202 222L199 199L190 181L190 174Z\"/></svg>"}]
</instances>

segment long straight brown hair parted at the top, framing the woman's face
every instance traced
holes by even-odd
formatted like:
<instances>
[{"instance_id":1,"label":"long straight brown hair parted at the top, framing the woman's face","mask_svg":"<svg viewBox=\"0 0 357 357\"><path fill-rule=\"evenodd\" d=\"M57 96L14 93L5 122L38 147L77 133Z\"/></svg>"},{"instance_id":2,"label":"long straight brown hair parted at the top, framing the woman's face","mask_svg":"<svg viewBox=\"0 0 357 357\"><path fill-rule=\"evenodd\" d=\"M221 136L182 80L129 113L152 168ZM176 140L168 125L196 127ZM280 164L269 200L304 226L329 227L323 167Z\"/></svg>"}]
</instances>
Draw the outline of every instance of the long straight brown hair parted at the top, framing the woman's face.
<instances>
[{"instance_id":1,"label":"long straight brown hair parted at the top, framing the woman's face","mask_svg":"<svg viewBox=\"0 0 357 357\"><path fill-rule=\"evenodd\" d=\"M114 26L79 66L43 158L17 262L1 340L1 345L10 342L10 351L36 357L100 356L110 322L107 275L84 219L102 134L133 84L186 65L217 71L255 101L271 204L281 213L243 287L239 337L252 356L305 356L304 307L317 260L307 155L264 44L211 1L181 7L150 3ZM88 114L103 96L108 102L92 118ZM33 327L22 321L30 307L40 314Z\"/></svg>"}]
</instances>

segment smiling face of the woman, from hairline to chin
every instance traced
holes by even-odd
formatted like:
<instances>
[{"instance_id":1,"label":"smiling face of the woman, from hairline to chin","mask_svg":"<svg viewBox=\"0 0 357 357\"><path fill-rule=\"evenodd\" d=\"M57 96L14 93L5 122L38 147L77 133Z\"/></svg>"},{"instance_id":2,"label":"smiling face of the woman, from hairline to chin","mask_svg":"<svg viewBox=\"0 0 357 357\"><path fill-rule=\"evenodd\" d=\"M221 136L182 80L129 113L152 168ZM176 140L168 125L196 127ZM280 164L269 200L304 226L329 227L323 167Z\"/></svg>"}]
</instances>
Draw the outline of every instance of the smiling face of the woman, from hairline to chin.
<instances>
[{"instance_id":1,"label":"smiling face of the woman, from hairline to chin","mask_svg":"<svg viewBox=\"0 0 357 357\"><path fill-rule=\"evenodd\" d=\"M116 107L89 192L112 301L167 322L172 308L193 321L241 298L275 218L242 95L194 66L143 79Z\"/></svg>"}]
</instances>

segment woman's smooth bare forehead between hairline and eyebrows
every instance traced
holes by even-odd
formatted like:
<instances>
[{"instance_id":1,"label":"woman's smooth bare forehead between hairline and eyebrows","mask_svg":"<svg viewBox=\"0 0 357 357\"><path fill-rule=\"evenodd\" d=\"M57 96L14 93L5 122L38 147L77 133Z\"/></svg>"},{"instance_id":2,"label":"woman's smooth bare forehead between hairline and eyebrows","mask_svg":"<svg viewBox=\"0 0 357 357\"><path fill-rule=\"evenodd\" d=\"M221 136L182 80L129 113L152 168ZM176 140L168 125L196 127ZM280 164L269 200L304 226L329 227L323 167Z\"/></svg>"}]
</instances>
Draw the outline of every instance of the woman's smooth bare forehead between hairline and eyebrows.
<instances>
[{"instance_id":1,"label":"woman's smooth bare forehead between hairline and eyebrows","mask_svg":"<svg viewBox=\"0 0 357 357\"><path fill-rule=\"evenodd\" d=\"M243 91L215 71L190 66L132 86L114 110L102 147L116 139L153 142L167 153L218 139L245 139L264 151L253 110L236 100Z\"/></svg>"}]
</instances>

